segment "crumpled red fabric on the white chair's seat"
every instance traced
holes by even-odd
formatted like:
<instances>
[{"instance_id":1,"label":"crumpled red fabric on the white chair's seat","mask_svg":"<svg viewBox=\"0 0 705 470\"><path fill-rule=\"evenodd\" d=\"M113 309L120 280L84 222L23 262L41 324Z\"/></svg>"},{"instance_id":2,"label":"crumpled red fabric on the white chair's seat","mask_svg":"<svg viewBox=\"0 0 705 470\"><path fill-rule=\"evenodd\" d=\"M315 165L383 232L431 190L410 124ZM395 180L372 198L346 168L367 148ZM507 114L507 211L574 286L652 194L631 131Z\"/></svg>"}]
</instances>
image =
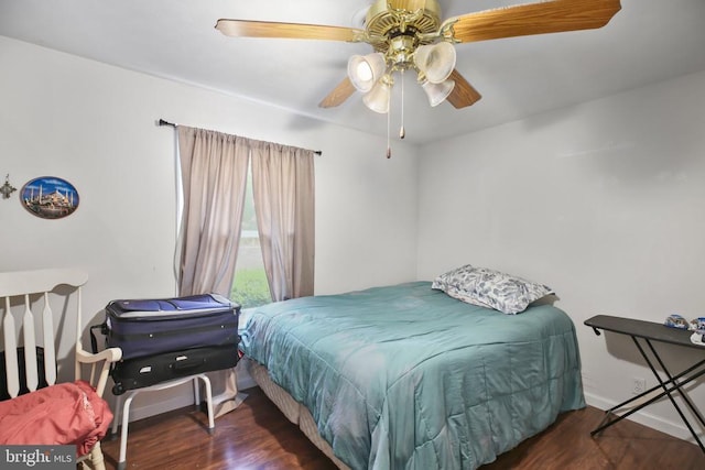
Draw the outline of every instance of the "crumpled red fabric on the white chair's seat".
<instances>
[{"instance_id":1,"label":"crumpled red fabric on the white chair's seat","mask_svg":"<svg viewBox=\"0 0 705 470\"><path fill-rule=\"evenodd\" d=\"M0 402L0 444L75 444L83 456L111 420L108 403L87 382L62 383Z\"/></svg>"}]
</instances>

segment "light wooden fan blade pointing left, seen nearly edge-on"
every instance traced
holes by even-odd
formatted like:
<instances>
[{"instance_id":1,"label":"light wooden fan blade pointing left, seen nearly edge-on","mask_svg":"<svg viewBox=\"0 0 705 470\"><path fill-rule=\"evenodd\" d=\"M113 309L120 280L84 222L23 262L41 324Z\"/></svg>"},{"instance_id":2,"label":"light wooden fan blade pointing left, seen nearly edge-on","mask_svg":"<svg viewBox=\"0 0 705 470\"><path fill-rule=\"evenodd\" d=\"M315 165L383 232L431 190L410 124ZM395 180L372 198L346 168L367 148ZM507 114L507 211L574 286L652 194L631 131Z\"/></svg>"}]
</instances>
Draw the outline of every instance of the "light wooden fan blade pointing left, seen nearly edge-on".
<instances>
[{"instance_id":1,"label":"light wooden fan blade pointing left, seen nearly edge-on","mask_svg":"<svg viewBox=\"0 0 705 470\"><path fill-rule=\"evenodd\" d=\"M359 42L365 35L362 30L354 28L227 19L218 20L216 30L226 36L234 37L282 37L347 42Z\"/></svg>"}]
</instances>

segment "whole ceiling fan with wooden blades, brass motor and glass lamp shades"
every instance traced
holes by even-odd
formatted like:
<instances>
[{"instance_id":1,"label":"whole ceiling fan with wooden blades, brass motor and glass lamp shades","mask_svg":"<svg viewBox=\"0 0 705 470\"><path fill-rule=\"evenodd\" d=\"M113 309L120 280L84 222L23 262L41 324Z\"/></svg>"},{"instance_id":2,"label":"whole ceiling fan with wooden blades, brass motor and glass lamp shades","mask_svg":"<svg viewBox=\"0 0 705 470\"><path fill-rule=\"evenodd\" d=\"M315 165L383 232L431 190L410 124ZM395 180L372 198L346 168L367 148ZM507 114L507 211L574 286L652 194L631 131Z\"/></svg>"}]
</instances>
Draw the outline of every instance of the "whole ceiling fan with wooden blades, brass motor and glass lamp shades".
<instances>
[{"instance_id":1,"label":"whole ceiling fan with wooden blades, brass motor and glass lamp shades","mask_svg":"<svg viewBox=\"0 0 705 470\"><path fill-rule=\"evenodd\" d=\"M389 111L393 73L414 70L431 106L447 99L455 108L480 94L455 69L455 43L601 28L620 10L619 0L551 0L467 13L441 21L437 0L376 0L365 29L220 19L216 29L235 37L278 37L368 43L375 50L352 56L348 76L319 103L336 107L355 90L365 105Z\"/></svg>"}]
</instances>

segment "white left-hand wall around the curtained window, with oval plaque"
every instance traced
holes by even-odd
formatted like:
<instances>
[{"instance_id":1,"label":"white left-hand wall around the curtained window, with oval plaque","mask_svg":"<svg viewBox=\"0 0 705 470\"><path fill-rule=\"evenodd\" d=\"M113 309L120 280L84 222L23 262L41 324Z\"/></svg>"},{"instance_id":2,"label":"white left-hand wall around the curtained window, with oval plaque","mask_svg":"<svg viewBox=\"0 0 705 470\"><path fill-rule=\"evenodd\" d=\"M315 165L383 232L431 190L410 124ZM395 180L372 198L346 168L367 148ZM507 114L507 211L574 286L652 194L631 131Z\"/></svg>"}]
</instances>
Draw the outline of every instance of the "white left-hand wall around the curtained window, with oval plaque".
<instances>
[{"instance_id":1,"label":"white left-hand wall around the curtained window, with oval plaque","mask_svg":"<svg viewBox=\"0 0 705 470\"><path fill-rule=\"evenodd\" d=\"M414 147L400 143L388 161L383 139L3 36L0 64L0 184L9 173L18 188L0 199L0 271L86 270L86 325L101 321L110 299L175 293L175 142L160 118L323 151L316 293L415 278ZM45 220L21 207L22 185L47 175L77 188L72 216Z\"/></svg>"}]
</instances>

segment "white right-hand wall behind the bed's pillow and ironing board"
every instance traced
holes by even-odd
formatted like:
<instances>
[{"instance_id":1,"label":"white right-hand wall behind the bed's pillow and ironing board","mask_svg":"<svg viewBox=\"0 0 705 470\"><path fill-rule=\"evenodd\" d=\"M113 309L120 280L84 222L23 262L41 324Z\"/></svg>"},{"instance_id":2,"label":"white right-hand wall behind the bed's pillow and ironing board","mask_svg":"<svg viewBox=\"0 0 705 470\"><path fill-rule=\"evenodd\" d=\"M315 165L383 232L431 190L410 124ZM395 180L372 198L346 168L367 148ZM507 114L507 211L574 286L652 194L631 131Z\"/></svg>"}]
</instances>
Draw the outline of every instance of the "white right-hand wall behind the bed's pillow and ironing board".
<instances>
[{"instance_id":1,"label":"white right-hand wall behind the bed's pillow and ironing board","mask_svg":"<svg viewBox=\"0 0 705 470\"><path fill-rule=\"evenodd\" d=\"M583 323L704 315L704 89L705 72L424 146L419 277L473 263L543 282L576 324L589 404L655 385L631 340ZM702 357L660 349L672 371ZM690 436L668 401L636 420Z\"/></svg>"}]
</instances>

